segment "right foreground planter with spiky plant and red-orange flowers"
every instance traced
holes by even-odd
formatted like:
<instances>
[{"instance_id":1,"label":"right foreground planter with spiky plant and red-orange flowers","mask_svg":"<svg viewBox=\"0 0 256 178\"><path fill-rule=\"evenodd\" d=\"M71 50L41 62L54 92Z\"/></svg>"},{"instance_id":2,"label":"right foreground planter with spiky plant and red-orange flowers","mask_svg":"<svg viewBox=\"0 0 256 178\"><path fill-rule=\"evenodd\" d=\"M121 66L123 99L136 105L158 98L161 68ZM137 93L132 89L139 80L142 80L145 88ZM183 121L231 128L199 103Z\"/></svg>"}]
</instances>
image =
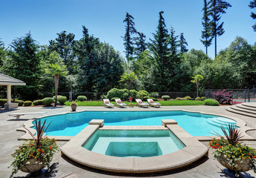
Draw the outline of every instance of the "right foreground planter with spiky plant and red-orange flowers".
<instances>
[{"instance_id":1,"label":"right foreground planter with spiky plant and red-orange flowers","mask_svg":"<svg viewBox=\"0 0 256 178\"><path fill-rule=\"evenodd\" d=\"M226 128L228 131L221 126L225 138L217 133L220 138L214 138L209 142L209 146L215 150L213 152L214 158L225 168L228 168L228 171L234 173L236 177L240 176L240 172L246 172L250 169L256 173L256 150L242 145L241 138L243 136L241 136L237 126L228 124Z\"/></svg>"}]
</instances>

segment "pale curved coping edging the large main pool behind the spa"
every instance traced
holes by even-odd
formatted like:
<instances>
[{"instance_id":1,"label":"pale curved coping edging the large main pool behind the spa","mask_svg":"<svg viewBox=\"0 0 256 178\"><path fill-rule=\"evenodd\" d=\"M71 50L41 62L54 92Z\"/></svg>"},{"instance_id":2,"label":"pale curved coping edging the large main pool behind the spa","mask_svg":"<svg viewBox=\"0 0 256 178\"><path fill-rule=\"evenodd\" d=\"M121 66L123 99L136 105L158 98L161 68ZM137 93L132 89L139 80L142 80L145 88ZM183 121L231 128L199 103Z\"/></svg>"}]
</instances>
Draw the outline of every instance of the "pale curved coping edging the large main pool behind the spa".
<instances>
[{"instance_id":1,"label":"pale curved coping edging the large main pool behind the spa","mask_svg":"<svg viewBox=\"0 0 256 178\"><path fill-rule=\"evenodd\" d=\"M103 111L103 110L98 110L98 111ZM168 111L168 110L166 110ZM241 132L241 136L243 136L243 138L241 140L256 140L256 138L249 136L246 132L247 131L255 131L255 128L249 128L246 126L246 122L244 122L241 119L238 119L234 116L226 116L223 114L217 114L217 113L206 113L206 112L202 112L202 111L189 111L189 110L175 110L175 111L184 111L184 112L190 112L190 113L202 113L202 114L208 114L208 115L214 115L214 116L223 116L226 117L228 119L233 119L234 121L237 122L237 126L239 127L239 130ZM50 116L57 116L57 115L65 115L68 113L81 113L81 112L86 112L86 111L77 111L77 112L66 112L66 113L62 113L62 114L52 114ZM97 112L97 111L95 111ZM103 111L103 112L108 112L108 111ZM118 112L118 111L109 111L109 112ZM121 111L121 112L126 112L126 111ZM136 112L136 111L130 111L130 112ZM158 111L141 111L141 112L158 112ZM48 116L42 116L39 118L35 118L35 119L41 119L44 117L48 117ZM36 130L31 128L33 127L33 122L34 119L30 119L28 121L26 121L23 126L25 126L25 128L28 129L28 131L31 131L32 133L36 133ZM156 125L158 126L158 125ZM106 127L106 126L105 126ZM137 126L139 127L139 126ZM17 128L16 131L23 131L25 132L25 134L23 136L20 136L18 139L32 139L31 135L28 133L28 131L25 128ZM71 138L73 138L74 136L48 136L49 138L54 138L60 141L68 141ZM211 141L211 139L213 139L216 136L194 136L196 139L198 139L199 141Z\"/></svg>"}]
</instances>

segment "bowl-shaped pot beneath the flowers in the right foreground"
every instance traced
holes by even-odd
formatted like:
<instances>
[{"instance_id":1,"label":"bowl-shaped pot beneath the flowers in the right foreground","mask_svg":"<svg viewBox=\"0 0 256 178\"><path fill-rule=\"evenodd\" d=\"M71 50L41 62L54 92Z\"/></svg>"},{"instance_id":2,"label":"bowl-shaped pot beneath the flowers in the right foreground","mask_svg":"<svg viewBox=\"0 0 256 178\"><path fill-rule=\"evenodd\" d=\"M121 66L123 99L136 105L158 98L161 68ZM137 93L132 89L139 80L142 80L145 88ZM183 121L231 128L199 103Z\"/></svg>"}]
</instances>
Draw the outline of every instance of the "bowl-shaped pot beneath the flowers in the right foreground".
<instances>
[{"instance_id":1,"label":"bowl-shaped pot beneath the flowers in the right foreground","mask_svg":"<svg viewBox=\"0 0 256 178\"><path fill-rule=\"evenodd\" d=\"M234 167L228 165L228 159L225 158L224 154L222 154L221 156L217 156L217 160L220 162L221 165L223 165L225 168L228 168L231 171L234 171ZM251 160L249 158L247 159L242 159L242 163L240 161L234 161L234 163L237 165L237 171L238 172L246 172L249 171L250 165L249 163L251 162Z\"/></svg>"}]
</instances>

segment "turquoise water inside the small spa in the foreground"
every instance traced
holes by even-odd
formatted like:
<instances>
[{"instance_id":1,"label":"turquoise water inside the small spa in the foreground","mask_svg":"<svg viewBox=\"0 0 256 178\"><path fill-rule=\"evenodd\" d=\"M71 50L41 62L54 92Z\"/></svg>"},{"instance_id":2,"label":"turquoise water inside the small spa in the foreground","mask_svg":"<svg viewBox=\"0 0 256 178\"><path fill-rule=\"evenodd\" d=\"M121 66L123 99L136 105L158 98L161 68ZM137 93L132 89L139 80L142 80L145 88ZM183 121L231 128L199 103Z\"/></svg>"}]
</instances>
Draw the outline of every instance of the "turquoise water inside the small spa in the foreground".
<instances>
[{"instance_id":1,"label":"turquoise water inside the small spa in the foreground","mask_svg":"<svg viewBox=\"0 0 256 178\"><path fill-rule=\"evenodd\" d=\"M83 147L109 156L160 156L185 145L170 131L96 131Z\"/></svg>"}]
</instances>

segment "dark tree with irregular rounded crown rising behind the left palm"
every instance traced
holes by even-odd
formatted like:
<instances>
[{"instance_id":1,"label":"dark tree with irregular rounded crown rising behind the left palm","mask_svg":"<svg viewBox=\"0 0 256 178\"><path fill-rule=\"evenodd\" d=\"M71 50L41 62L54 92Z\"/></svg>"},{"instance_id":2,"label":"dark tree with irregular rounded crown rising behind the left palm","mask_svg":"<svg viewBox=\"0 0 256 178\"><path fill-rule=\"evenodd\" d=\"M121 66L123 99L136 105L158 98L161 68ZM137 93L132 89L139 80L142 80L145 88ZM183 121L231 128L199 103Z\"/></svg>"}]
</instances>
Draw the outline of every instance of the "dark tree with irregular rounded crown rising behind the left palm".
<instances>
[{"instance_id":1,"label":"dark tree with irregular rounded crown rising behind the left palm","mask_svg":"<svg viewBox=\"0 0 256 178\"><path fill-rule=\"evenodd\" d=\"M57 33L57 38L55 40L49 41L49 50L56 51L60 54L63 59L64 64L67 66L69 73L74 73L76 71L74 54L72 50L72 43L74 42L74 34L62 31Z\"/></svg>"}]
</instances>

